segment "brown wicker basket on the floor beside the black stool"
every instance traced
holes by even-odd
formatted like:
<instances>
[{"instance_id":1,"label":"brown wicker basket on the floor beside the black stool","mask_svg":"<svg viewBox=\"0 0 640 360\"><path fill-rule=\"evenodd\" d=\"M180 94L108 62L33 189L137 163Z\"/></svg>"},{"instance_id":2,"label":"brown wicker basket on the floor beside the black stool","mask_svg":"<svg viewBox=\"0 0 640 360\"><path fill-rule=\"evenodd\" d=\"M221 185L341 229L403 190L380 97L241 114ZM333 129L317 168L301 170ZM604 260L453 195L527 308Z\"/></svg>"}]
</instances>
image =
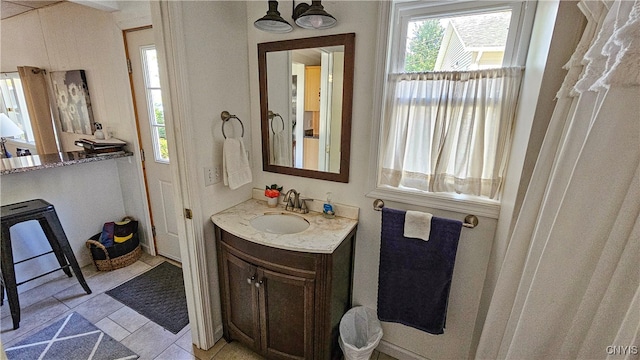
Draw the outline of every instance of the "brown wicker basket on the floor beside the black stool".
<instances>
[{"instance_id":1,"label":"brown wicker basket on the floor beside the black stool","mask_svg":"<svg viewBox=\"0 0 640 360\"><path fill-rule=\"evenodd\" d=\"M116 243L109 247L102 245L99 239L100 233L93 235L86 242L98 271L111 271L129 266L142 255L138 233L133 234L131 239L123 243Z\"/></svg>"}]
</instances>

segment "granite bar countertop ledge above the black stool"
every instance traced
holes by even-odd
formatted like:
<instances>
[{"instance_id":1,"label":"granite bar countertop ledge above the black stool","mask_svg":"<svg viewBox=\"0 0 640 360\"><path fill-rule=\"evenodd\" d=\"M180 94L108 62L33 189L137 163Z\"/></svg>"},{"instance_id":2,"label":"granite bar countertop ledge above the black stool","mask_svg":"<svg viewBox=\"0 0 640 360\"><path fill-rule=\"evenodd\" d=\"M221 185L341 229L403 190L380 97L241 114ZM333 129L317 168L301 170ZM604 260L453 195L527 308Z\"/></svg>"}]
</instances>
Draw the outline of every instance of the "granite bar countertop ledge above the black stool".
<instances>
[{"instance_id":1,"label":"granite bar countertop ledge above the black stool","mask_svg":"<svg viewBox=\"0 0 640 360\"><path fill-rule=\"evenodd\" d=\"M0 163L0 175L84 164L127 156L133 156L133 153L120 151L95 155L87 154L84 151L68 151L56 154L16 156L8 159L2 159L2 162Z\"/></svg>"}]
</instances>

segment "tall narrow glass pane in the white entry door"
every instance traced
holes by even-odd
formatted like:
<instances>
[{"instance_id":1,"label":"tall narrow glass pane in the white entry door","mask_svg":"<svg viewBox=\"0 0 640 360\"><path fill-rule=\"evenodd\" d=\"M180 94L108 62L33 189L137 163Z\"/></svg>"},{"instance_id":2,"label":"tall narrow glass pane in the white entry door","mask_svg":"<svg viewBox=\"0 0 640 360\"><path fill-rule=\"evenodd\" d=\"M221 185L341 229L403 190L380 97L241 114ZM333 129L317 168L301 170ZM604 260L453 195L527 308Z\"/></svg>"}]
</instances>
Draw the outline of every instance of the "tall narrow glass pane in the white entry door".
<instances>
[{"instance_id":1,"label":"tall narrow glass pane in the white entry door","mask_svg":"<svg viewBox=\"0 0 640 360\"><path fill-rule=\"evenodd\" d=\"M146 46L141 49L141 52L153 154L157 162L168 163L169 148L162 108L162 91L160 90L160 72L158 70L156 48L153 45Z\"/></svg>"}]
</instances>

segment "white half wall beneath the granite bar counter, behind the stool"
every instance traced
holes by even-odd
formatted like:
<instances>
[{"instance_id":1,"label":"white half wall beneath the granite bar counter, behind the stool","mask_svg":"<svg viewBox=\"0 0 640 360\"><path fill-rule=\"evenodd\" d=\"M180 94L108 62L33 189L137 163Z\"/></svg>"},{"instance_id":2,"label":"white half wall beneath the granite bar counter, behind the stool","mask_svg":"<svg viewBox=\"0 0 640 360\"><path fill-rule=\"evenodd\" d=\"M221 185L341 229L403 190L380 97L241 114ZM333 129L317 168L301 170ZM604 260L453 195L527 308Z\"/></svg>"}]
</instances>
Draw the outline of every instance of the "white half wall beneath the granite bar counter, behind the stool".
<instances>
[{"instance_id":1,"label":"white half wall beneath the granite bar counter, behind the stool","mask_svg":"<svg viewBox=\"0 0 640 360\"><path fill-rule=\"evenodd\" d=\"M85 242L102 230L102 224L120 219L125 214L116 161L126 160L105 160L2 175L2 205L31 199L43 199L53 204L78 263L80 266L91 264ZM12 226L11 243L16 261L51 250L35 221ZM16 278L20 282L57 267L55 257L49 254L17 265ZM56 272L28 282L18 290L28 290L61 274Z\"/></svg>"}]
</instances>

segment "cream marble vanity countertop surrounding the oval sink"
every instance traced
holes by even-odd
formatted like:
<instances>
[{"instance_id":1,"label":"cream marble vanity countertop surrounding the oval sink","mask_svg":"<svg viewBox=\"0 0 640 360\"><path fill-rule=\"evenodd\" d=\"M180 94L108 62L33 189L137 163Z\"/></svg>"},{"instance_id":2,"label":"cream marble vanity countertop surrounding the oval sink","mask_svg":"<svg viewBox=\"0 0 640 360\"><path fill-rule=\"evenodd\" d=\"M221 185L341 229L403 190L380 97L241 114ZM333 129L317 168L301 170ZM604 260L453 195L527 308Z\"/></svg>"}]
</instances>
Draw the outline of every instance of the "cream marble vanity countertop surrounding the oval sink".
<instances>
[{"instance_id":1,"label":"cream marble vanity countertop surrounding the oval sink","mask_svg":"<svg viewBox=\"0 0 640 360\"><path fill-rule=\"evenodd\" d=\"M309 227L295 234L271 234L255 229L251 219L265 213L283 212L301 216L309 222ZM223 230L256 244L279 249L309 253L330 254L358 224L358 220L336 216L327 219L320 212L310 211L299 214L285 211L282 204L276 208L267 206L266 201L250 199L232 208L211 216L211 221Z\"/></svg>"}]
</instances>

